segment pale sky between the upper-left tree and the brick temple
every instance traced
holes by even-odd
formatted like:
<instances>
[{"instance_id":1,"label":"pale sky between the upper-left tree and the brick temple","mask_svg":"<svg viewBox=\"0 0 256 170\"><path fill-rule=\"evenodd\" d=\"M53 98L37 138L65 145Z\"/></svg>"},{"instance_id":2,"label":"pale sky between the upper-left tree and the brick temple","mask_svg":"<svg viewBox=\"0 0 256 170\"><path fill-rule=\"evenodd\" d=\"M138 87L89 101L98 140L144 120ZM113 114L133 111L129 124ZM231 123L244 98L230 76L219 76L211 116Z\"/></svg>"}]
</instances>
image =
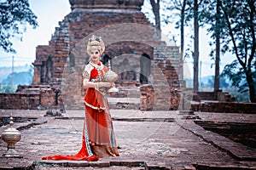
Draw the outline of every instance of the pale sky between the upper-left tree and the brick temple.
<instances>
[{"instance_id":1,"label":"pale sky between the upper-left tree and the brick temple","mask_svg":"<svg viewBox=\"0 0 256 170\"><path fill-rule=\"evenodd\" d=\"M36 47L48 45L51 35L58 27L59 21L71 12L68 0L29 0L32 12L38 16L38 27L26 26L22 42L13 41L16 54L7 54L0 49L0 66L11 66L14 56L14 65L31 65L36 59Z\"/></svg>"}]
</instances>

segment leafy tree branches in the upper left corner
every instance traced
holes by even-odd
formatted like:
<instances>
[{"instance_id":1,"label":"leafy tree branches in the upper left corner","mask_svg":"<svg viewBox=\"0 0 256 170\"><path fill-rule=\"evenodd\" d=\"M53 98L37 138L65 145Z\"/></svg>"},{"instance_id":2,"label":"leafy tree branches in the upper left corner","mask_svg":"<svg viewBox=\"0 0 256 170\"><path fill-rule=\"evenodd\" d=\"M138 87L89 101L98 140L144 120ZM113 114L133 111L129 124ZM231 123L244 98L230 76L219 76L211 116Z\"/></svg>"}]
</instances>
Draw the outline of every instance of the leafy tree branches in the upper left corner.
<instances>
[{"instance_id":1,"label":"leafy tree branches in the upper left corner","mask_svg":"<svg viewBox=\"0 0 256 170\"><path fill-rule=\"evenodd\" d=\"M12 38L20 37L29 24L38 26L37 16L29 8L28 0L2 0L0 1L0 48L7 53L15 53L12 47Z\"/></svg>"}]
</instances>

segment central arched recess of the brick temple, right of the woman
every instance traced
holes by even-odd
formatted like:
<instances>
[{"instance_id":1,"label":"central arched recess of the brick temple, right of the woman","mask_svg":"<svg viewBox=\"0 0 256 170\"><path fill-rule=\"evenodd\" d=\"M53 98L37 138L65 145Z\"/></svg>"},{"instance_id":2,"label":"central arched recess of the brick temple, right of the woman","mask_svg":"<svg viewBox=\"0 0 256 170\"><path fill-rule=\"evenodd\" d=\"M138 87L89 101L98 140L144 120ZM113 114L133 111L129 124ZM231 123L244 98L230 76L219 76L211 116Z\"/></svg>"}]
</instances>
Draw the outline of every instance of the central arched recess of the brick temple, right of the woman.
<instances>
[{"instance_id":1,"label":"central arched recess of the brick temple, right of the woman","mask_svg":"<svg viewBox=\"0 0 256 170\"><path fill-rule=\"evenodd\" d=\"M137 89L149 83L153 47L140 42L113 42L106 48L112 70L119 74L118 88ZM107 64L108 65L108 64Z\"/></svg>"}]
</instances>

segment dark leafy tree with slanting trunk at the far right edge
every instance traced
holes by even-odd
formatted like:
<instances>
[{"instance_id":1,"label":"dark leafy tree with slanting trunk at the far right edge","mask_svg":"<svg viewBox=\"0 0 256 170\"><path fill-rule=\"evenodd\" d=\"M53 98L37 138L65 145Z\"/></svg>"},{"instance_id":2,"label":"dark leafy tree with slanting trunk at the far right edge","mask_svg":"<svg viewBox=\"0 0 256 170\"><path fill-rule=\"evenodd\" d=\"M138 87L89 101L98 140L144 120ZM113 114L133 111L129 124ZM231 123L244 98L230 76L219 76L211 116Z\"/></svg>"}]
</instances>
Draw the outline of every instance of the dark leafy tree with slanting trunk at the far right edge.
<instances>
[{"instance_id":1,"label":"dark leafy tree with slanting trunk at the far right edge","mask_svg":"<svg viewBox=\"0 0 256 170\"><path fill-rule=\"evenodd\" d=\"M223 51L236 56L230 65L225 65L222 75L230 77L236 87L241 87L242 80L246 80L249 98L256 102L256 2L223 0L220 7L225 23L221 34Z\"/></svg>"}]
</instances>

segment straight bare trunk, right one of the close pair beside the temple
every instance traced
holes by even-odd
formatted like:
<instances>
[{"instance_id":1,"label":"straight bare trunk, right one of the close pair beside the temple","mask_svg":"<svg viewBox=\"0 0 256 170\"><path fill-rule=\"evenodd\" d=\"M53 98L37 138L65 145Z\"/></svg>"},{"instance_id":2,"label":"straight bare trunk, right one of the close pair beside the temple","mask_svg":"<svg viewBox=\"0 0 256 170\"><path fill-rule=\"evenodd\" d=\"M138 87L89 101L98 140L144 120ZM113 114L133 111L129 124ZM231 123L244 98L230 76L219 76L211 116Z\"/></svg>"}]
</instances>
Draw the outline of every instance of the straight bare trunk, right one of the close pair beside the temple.
<instances>
[{"instance_id":1,"label":"straight bare trunk, right one of the close pair beside the temple","mask_svg":"<svg viewBox=\"0 0 256 170\"><path fill-rule=\"evenodd\" d=\"M198 25L198 3L197 0L194 1L194 92L198 92L198 59L199 59L199 25Z\"/></svg>"}]
</instances>

